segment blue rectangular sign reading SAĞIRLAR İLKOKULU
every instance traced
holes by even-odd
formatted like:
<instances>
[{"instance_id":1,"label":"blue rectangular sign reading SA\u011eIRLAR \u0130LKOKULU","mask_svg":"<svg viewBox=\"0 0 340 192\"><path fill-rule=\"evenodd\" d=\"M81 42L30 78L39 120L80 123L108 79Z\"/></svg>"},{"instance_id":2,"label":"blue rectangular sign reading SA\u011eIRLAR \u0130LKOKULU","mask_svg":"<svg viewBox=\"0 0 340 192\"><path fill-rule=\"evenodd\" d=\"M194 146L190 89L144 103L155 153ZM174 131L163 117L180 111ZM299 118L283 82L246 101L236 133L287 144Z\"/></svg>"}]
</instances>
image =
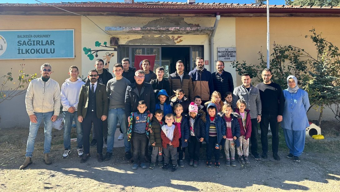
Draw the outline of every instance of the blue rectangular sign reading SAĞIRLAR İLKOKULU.
<instances>
[{"instance_id":1,"label":"blue rectangular sign reading SA\u011eIRLAR \u0130LKOKULU","mask_svg":"<svg viewBox=\"0 0 340 192\"><path fill-rule=\"evenodd\" d=\"M0 30L0 59L74 58L74 30Z\"/></svg>"}]
</instances>

